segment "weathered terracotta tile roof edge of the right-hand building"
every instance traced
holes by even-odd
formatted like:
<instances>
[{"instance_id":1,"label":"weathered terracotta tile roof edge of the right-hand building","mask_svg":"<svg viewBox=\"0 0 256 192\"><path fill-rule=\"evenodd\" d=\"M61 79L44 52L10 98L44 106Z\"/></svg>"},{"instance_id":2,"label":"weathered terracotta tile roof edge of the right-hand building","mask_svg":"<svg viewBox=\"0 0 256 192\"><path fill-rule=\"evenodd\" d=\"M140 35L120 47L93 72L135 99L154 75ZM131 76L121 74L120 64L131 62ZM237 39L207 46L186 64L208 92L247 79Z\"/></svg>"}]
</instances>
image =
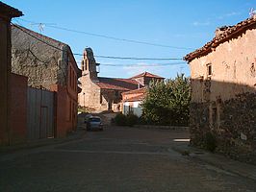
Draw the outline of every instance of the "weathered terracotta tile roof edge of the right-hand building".
<instances>
[{"instance_id":1,"label":"weathered terracotta tile roof edge of the right-hand building","mask_svg":"<svg viewBox=\"0 0 256 192\"><path fill-rule=\"evenodd\" d=\"M193 51L184 57L184 60L191 61L195 58L204 56L212 51L212 48L216 48L220 43L232 38L232 36L241 34L244 30L248 29L251 25L256 24L256 15L251 18L247 18L237 25L225 27L224 31L221 31L211 41L207 42L203 47Z\"/></svg>"}]
</instances>

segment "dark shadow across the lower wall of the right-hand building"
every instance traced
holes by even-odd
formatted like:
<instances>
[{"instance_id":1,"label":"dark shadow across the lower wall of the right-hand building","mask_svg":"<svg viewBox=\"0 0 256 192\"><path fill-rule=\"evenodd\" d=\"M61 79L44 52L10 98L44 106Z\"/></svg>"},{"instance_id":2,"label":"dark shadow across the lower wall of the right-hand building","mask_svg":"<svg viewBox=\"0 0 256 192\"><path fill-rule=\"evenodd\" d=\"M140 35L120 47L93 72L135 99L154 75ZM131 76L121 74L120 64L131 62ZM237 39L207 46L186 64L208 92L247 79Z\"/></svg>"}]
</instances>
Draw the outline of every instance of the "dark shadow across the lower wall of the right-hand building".
<instances>
[{"instance_id":1,"label":"dark shadow across the lower wall of the right-hand building","mask_svg":"<svg viewBox=\"0 0 256 192\"><path fill-rule=\"evenodd\" d=\"M193 79L190 132L192 145L205 147L212 132L218 152L249 161L256 155L256 80L249 86Z\"/></svg>"}]
</instances>

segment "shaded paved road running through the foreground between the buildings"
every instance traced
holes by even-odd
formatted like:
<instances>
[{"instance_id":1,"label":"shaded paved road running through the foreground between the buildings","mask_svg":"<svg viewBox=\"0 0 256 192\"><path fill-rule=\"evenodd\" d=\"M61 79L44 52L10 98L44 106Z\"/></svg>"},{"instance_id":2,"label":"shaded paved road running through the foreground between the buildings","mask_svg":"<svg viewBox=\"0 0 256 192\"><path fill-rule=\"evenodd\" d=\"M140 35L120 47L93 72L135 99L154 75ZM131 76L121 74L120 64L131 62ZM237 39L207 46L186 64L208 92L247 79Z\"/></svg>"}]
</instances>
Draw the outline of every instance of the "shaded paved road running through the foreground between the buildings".
<instances>
[{"instance_id":1,"label":"shaded paved road running through the foreground between the buildings","mask_svg":"<svg viewBox=\"0 0 256 192\"><path fill-rule=\"evenodd\" d=\"M0 157L0 191L256 191L256 183L171 150L186 132L108 129Z\"/></svg>"}]
</instances>

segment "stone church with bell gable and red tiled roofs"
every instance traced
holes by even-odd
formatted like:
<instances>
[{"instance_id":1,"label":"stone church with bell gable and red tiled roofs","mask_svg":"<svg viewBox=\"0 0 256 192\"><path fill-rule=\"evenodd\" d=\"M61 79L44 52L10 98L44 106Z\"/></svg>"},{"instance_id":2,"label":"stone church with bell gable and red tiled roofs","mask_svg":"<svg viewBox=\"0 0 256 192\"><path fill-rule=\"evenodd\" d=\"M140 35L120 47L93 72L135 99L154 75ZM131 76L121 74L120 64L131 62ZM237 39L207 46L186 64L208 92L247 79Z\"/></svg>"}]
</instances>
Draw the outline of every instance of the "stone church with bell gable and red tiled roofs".
<instances>
[{"instance_id":1,"label":"stone church with bell gable and red tiled roofs","mask_svg":"<svg viewBox=\"0 0 256 192\"><path fill-rule=\"evenodd\" d=\"M121 93L144 87L154 79L161 79L148 72L129 79L98 77L97 65L92 50L86 48L81 64L82 77L79 79L82 91L78 98L81 107L121 111Z\"/></svg>"}]
</instances>

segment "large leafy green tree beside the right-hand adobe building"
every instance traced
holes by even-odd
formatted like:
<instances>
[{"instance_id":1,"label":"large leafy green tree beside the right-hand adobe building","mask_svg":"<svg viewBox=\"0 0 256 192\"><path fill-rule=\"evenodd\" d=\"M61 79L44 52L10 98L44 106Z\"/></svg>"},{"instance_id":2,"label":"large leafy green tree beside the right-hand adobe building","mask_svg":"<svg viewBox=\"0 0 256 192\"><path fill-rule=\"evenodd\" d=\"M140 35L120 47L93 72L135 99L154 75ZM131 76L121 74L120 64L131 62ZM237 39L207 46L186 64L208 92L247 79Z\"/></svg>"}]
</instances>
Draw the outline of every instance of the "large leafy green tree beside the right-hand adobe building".
<instances>
[{"instance_id":1,"label":"large leafy green tree beside the right-hand adobe building","mask_svg":"<svg viewBox=\"0 0 256 192\"><path fill-rule=\"evenodd\" d=\"M178 74L174 80L150 84L142 103L142 117L149 124L187 126L190 102L190 80Z\"/></svg>"}]
</instances>

